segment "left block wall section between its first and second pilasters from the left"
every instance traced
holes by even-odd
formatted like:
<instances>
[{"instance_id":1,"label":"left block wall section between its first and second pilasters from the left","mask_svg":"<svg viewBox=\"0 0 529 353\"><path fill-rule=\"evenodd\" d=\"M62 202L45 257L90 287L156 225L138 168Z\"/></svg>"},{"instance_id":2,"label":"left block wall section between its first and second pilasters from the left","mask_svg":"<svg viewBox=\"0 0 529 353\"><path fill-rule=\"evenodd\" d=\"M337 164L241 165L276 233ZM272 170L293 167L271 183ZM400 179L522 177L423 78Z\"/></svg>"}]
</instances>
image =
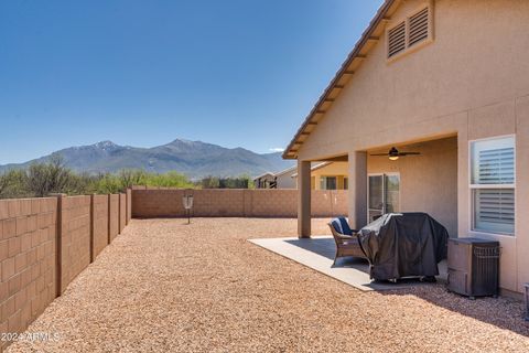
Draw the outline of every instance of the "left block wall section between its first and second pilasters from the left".
<instances>
[{"instance_id":1,"label":"left block wall section between its first and second pilasters from the left","mask_svg":"<svg viewBox=\"0 0 529 353\"><path fill-rule=\"evenodd\" d=\"M61 292L90 264L90 196L60 199Z\"/></svg>"}]
</instances>

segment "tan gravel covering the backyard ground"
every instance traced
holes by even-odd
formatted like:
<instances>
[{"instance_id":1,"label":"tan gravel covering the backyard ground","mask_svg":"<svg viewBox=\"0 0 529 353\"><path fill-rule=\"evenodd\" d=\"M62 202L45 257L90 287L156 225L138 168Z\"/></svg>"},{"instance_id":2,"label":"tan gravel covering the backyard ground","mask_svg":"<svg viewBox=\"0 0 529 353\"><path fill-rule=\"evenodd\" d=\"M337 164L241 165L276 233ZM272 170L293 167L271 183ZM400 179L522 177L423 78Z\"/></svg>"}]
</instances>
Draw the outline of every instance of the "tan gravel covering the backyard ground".
<instances>
[{"instance_id":1,"label":"tan gravel covering the backyard ground","mask_svg":"<svg viewBox=\"0 0 529 353\"><path fill-rule=\"evenodd\" d=\"M8 352L529 352L516 300L361 292L247 242L295 220L133 220ZM315 232L326 233L324 220Z\"/></svg>"}]
</instances>

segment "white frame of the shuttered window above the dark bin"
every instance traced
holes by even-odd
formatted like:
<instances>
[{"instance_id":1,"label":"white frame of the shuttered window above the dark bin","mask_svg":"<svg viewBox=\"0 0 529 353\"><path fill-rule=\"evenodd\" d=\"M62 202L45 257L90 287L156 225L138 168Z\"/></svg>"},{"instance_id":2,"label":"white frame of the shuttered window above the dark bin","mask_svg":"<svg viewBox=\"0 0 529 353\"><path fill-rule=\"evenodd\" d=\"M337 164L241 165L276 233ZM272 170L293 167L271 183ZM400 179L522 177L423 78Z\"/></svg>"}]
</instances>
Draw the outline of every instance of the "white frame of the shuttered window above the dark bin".
<instances>
[{"instance_id":1,"label":"white frame of the shuttered window above the dark bin","mask_svg":"<svg viewBox=\"0 0 529 353\"><path fill-rule=\"evenodd\" d=\"M473 143L476 142L482 142L482 141L493 141L493 140L500 140L500 139L506 139L506 138L512 138L512 146L514 146L514 160L515 160L515 171L514 171L514 178L512 178L512 183L510 184L473 184L472 180L472 174L473 174ZM517 211L518 211L518 197L516 196L516 183L517 183L517 147L516 147L516 133L508 133L508 135L498 135L498 136L493 136L493 137L487 137L487 138L481 138L481 139L473 139L468 140L468 225L469 229L468 233L472 235L495 235L495 236L505 236L509 238L516 237L516 218L517 218ZM506 233L506 232L493 232L493 231L483 231L483 229L476 229L475 228L475 211L476 211L476 205L475 205L475 195L474 192L475 190L490 190L490 189L504 189L504 190L512 190L512 193L515 195L515 224L514 224L514 231L512 233Z\"/></svg>"}]
</instances>

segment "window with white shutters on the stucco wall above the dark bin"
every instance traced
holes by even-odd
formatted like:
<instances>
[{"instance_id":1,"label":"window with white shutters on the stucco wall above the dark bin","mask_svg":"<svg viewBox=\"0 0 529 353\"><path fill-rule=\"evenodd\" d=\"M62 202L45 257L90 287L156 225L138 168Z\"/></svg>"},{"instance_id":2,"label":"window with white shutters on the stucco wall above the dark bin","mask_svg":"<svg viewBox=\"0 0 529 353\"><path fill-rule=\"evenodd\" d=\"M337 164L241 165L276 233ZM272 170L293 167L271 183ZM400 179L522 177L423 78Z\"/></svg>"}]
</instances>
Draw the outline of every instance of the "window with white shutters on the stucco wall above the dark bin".
<instances>
[{"instance_id":1,"label":"window with white shutters on the stucco wall above the dark bin","mask_svg":"<svg viewBox=\"0 0 529 353\"><path fill-rule=\"evenodd\" d=\"M471 142L472 229L515 234L515 138Z\"/></svg>"}]
</instances>

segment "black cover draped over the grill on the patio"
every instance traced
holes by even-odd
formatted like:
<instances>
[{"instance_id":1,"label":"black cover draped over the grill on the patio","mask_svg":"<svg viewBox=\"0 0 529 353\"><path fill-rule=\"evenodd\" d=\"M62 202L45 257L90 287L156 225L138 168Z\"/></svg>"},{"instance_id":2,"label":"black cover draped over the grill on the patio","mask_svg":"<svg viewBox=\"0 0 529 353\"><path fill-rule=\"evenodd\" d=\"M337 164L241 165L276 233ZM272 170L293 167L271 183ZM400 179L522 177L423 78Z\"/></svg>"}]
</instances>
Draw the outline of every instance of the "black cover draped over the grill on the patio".
<instances>
[{"instance_id":1,"label":"black cover draped over the grill on the patio","mask_svg":"<svg viewBox=\"0 0 529 353\"><path fill-rule=\"evenodd\" d=\"M427 213L389 213L360 229L371 279L438 276L449 232Z\"/></svg>"}]
</instances>

